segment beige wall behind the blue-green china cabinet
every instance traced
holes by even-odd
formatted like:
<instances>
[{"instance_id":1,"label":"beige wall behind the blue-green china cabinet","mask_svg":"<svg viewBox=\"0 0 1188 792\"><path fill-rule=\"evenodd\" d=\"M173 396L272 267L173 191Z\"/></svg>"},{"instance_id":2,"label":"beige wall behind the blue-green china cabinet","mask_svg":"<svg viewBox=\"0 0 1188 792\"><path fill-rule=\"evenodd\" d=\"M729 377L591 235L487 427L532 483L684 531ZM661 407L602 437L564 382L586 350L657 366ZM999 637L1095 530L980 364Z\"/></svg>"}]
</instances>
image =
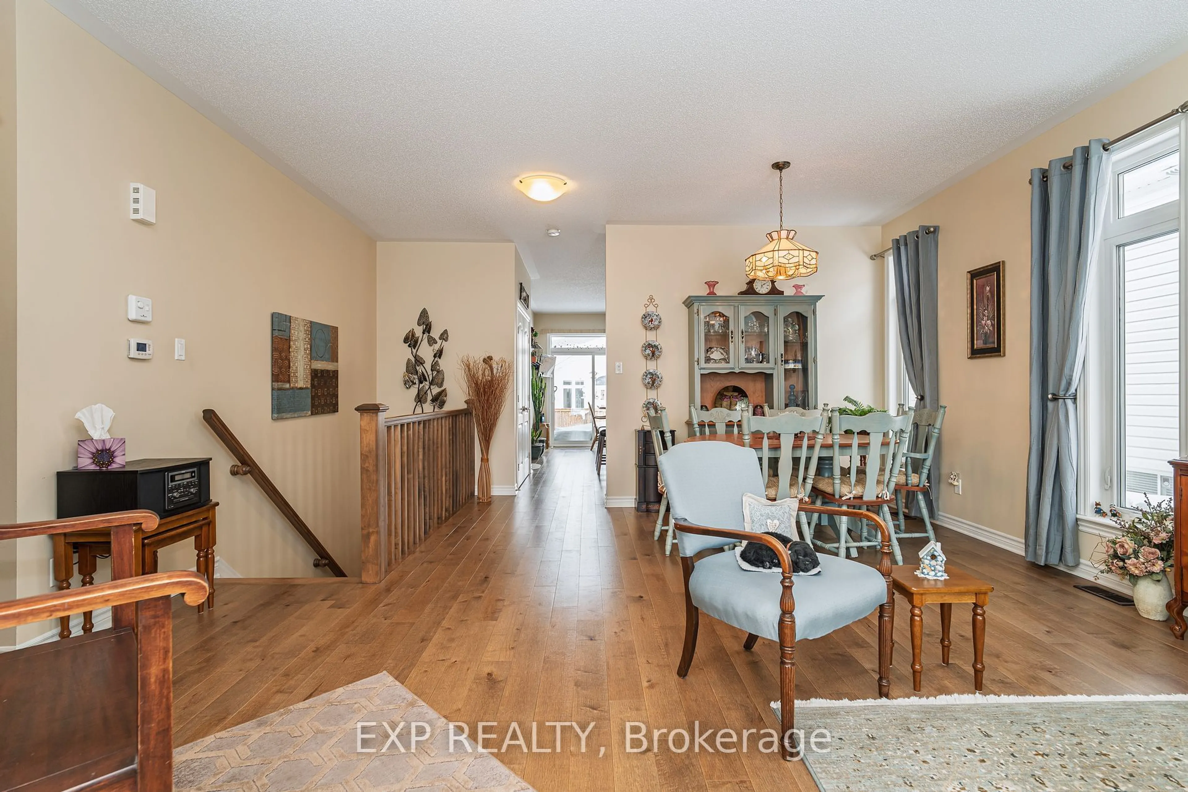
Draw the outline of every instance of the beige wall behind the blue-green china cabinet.
<instances>
[{"instance_id":1,"label":"beige wall behind the blue-green china cabinet","mask_svg":"<svg viewBox=\"0 0 1188 792\"><path fill-rule=\"evenodd\" d=\"M644 302L653 294L664 323L661 401L683 425L689 408L689 315L682 302L704 294L706 280L718 292L746 285L744 259L765 241L758 226L607 226L607 498L633 498L634 442L645 398L639 375ZM820 398L838 404L845 395L881 401L884 357L883 268L871 261L879 249L878 227L801 228L797 239L821 254L820 271L804 280L805 292L824 294L817 312ZM788 290L791 291L790 289ZM623 374L614 373L615 361ZM612 501L613 503L614 501Z\"/></svg>"}]
</instances>

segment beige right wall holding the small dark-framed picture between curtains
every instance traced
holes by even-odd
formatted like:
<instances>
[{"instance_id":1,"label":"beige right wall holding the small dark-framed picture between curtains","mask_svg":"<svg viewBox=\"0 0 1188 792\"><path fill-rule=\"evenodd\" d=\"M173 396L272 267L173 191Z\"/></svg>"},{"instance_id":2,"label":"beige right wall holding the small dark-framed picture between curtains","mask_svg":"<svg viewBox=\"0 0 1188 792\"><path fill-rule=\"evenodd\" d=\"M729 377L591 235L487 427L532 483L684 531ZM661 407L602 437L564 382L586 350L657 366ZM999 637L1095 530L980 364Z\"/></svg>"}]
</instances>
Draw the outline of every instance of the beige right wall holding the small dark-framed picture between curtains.
<instances>
[{"instance_id":1,"label":"beige right wall holding the small dark-framed picture between curtains","mask_svg":"<svg viewBox=\"0 0 1188 792\"><path fill-rule=\"evenodd\" d=\"M1029 171L1093 138L1111 138L1188 97L1188 56L1137 80L883 227L893 235L936 223L940 236L940 391L948 406L941 471L956 470L962 494L941 488L940 508L1012 537L1024 533L1030 344ZM1006 261L1006 355L966 357L966 272ZM1082 534L1088 557L1097 537Z\"/></svg>"}]
</instances>

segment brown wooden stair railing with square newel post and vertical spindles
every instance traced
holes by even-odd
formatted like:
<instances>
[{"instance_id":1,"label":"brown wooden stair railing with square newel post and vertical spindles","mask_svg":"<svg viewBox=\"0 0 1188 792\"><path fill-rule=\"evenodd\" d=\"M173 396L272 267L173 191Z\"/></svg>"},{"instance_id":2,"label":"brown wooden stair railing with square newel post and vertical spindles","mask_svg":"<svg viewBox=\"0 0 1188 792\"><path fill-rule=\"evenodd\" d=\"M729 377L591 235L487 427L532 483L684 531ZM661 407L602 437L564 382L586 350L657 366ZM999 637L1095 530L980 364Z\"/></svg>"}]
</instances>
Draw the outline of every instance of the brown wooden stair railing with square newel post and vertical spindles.
<instances>
[{"instance_id":1,"label":"brown wooden stair railing with square newel post and vertical spindles","mask_svg":"<svg viewBox=\"0 0 1188 792\"><path fill-rule=\"evenodd\" d=\"M429 532L474 498L469 407L385 418L359 413L362 582L379 583Z\"/></svg>"}]
</instances>

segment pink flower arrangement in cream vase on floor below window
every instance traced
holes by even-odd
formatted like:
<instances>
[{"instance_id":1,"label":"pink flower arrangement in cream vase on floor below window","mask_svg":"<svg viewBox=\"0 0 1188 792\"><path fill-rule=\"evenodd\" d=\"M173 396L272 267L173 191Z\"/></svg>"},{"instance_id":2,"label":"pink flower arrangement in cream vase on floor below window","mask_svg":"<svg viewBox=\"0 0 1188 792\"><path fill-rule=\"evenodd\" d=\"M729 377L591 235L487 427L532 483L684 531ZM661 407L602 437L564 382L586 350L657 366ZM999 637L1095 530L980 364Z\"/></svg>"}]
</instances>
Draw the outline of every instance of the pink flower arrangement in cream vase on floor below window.
<instances>
[{"instance_id":1,"label":"pink flower arrangement in cream vase on floor below window","mask_svg":"<svg viewBox=\"0 0 1188 792\"><path fill-rule=\"evenodd\" d=\"M1143 500L1146 506L1135 519L1113 518L1121 533L1101 541L1098 546L1101 557L1093 565L1133 584L1135 609L1140 616L1167 621L1167 604L1171 598L1167 575L1173 552L1171 499L1154 505L1145 495Z\"/></svg>"}]
</instances>

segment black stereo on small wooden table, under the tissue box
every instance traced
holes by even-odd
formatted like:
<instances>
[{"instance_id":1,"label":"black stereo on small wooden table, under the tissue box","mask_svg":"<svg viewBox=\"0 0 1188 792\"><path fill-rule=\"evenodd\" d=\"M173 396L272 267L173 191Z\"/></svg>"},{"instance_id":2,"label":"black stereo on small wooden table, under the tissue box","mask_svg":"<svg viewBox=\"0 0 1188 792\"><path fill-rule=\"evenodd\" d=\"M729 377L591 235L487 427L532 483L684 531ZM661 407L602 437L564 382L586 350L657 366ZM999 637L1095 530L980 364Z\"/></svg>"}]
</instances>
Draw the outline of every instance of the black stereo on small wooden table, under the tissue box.
<instances>
[{"instance_id":1,"label":"black stereo on small wooden table, under the tissue box","mask_svg":"<svg viewBox=\"0 0 1188 792\"><path fill-rule=\"evenodd\" d=\"M134 508L169 517L209 500L210 457L128 460L118 469L58 471L58 519Z\"/></svg>"}]
</instances>

